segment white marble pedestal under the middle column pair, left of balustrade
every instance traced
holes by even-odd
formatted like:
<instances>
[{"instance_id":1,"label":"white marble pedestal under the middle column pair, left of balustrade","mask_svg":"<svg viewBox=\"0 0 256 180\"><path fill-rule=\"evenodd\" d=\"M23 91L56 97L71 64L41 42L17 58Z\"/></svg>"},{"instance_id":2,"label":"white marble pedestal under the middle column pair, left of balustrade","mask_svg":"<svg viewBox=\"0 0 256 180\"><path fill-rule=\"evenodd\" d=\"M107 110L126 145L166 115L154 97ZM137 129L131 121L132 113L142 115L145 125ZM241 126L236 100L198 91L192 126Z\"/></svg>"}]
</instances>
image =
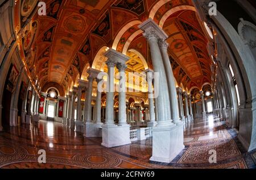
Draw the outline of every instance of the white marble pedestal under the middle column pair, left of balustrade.
<instances>
[{"instance_id":1,"label":"white marble pedestal under the middle column pair, left of balustrade","mask_svg":"<svg viewBox=\"0 0 256 180\"><path fill-rule=\"evenodd\" d=\"M131 144L130 125L102 125L102 143L101 145L111 148Z\"/></svg>"}]
</instances>

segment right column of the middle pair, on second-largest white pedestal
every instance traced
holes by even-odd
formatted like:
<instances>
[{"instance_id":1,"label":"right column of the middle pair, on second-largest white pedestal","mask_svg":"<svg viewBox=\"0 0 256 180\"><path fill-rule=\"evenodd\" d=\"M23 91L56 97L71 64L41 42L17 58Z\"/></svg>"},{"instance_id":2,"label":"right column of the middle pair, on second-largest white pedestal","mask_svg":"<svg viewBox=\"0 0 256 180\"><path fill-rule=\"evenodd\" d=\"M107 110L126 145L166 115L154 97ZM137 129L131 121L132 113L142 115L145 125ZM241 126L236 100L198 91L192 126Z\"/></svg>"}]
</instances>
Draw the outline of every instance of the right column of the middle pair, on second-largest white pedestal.
<instances>
[{"instance_id":1,"label":"right column of the middle pair, on second-largest white pedestal","mask_svg":"<svg viewBox=\"0 0 256 180\"><path fill-rule=\"evenodd\" d=\"M118 125L128 125L126 122L126 74L127 66L121 62L117 63L119 72L119 86L118 86Z\"/></svg>"}]
</instances>

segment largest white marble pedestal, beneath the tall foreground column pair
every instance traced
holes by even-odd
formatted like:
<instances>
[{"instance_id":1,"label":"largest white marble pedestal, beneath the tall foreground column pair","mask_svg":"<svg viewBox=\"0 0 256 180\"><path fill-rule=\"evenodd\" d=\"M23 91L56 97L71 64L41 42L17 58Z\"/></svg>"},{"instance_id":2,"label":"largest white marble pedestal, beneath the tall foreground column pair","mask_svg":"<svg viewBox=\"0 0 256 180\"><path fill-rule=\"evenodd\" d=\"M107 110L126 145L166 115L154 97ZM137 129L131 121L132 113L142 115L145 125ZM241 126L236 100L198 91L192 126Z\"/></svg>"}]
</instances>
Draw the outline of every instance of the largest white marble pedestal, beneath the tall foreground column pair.
<instances>
[{"instance_id":1,"label":"largest white marble pedestal, beneath the tall foreground column pair","mask_svg":"<svg viewBox=\"0 0 256 180\"><path fill-rule=\"evenodd\" d=\"M184 149L183 123L168 128L152 128L153 147L150 161L170 163Z\"/></svg>"}]
</instances>

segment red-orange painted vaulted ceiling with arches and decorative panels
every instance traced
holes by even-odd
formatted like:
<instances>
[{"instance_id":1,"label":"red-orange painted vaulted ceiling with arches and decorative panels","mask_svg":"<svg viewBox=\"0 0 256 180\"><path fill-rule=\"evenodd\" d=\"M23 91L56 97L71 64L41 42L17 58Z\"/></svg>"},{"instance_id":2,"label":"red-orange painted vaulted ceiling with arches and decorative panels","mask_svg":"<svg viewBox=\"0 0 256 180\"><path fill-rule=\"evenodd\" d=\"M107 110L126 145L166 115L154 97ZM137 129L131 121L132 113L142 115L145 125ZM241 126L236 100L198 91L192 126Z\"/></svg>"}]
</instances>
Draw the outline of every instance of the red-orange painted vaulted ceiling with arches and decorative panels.
<instances>
[{"instance_id":1,"label":"red-orange painted vaulted ceiling with arches and decorative panels","mask_svg":"<svg viewBox=\"0 0 256 180\"><path fill-rule=\"evenodd\" d=\"M76 78L82 76L88 64L92 66L93 61L98 61L95 60L96 55L104 47L114 47L129 55L129 70L141 72L144 68L142 58L146 60L148 68L152 68L149 47L138 25L150 14L154 14L152 19L159 24L167 12L175 7L193 9L191 0L44 2L47 15L39 16L34 1L16 1L14 28L17 36L22 37L20 54L24 61L30 63L31 76L38 78L41 87L55 82L66 92ZM29 28L27 19L32 19ZM25 27L27 32L24 31ZM211 62L205 48L207 39L195 12L175 12L166 18L163 29L169 36L168 53L177 82L183 83L188 89L210 82ZM130 49L139 53L136 55Z\"/></svg>"}]
</instances>

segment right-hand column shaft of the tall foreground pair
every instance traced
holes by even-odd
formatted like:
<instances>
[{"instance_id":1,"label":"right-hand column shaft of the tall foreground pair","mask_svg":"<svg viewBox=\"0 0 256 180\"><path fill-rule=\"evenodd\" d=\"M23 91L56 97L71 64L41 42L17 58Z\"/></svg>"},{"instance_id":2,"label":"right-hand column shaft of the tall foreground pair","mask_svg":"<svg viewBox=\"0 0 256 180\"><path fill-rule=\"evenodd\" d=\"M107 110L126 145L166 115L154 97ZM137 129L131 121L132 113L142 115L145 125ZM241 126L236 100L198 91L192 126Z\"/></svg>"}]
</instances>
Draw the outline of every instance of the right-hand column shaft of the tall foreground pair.
<instances>
[{"instance_id":1,"label":"right-hand column shaft of the tall foreground pair","mask_svg":"<svg viewBox=\"0 0 256 180\"><path fill-rule=\"evenodd\" d=\"M171 106L171 117L175 124L181 123L179 118L179 105L177 102L177 91L175 85L174 73L172 72L172 66L170 62L170 58L167 52L168 43L165 40L160 40L158 42L160 51L163 57L163 64L166 72L167 83L168 83L168 91L170 97L170 106Z\"/></svg>"}]
</instances>

